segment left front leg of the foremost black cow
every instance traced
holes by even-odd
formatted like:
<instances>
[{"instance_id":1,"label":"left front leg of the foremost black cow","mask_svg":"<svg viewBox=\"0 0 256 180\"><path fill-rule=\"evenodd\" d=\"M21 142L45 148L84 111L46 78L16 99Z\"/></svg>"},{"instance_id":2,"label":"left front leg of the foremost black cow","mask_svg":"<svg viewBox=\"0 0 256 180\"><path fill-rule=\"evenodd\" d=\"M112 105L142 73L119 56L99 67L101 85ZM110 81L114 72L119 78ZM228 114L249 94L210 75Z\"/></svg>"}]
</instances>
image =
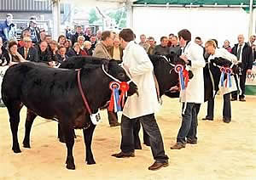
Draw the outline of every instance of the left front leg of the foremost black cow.
<instances>
[{"instance_id":1,"label":"left front leg of the foremost black cow","mask_svg":"<svg viewBox=\"0 0 256 180\"><path fill-rule=\"evenodd\" d=\"M61 129L64 133L65 139L66 139L66 146L67 146L67 169L74 170L75 164L73 160L73 144L74 144L74 138L73 138L73 128L71 125L68 125L65 122L61 122Z\"/></svg>"}]
</instances>

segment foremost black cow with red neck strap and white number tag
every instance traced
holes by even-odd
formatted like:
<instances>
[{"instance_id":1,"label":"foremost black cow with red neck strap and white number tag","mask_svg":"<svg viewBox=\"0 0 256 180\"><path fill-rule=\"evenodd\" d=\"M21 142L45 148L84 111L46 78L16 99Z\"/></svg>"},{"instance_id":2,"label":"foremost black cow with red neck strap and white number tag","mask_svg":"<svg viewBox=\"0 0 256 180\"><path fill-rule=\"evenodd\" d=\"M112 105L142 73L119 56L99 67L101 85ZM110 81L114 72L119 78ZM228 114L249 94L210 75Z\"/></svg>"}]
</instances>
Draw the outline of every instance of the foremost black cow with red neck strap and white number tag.
<instances>
[{"instance_id":1,"label":"foremost black cow with red neck strap and white number tag","mask_svg":"<svg viewBox=\"0 0 256 180\"><path fill-rule=\"evenodd\" d=\"M113 79L103 71L119 79L128 82L130 78L125 74L116 61L93 59L90 65L80 70L82 89L87 98L92 113L106 104L110 99L111 91L109 83ZM30 148L30 131L32 122L37 115L46 119L56 119L60 122L64 132L67 146L67 169L75 169L73 160L73 128L88 128L94 130L88 110L84 107L83 99L79 93L77 70L63 70L49 68L32 62L13 65L3 76L2 98L9 111L9 121L13 135L13 151L20 153L20 145L17 138L20 122L20 109L26 105L29 115L26 117L26 133L23 141L25 148ZM136 93L137 86L131 82L128 95ZM92 135L92 133L91 133ZM86 132L84 141L86 142ZM89 142L89 141L87 141ZM86 161L94 164L95 160L90 149L90 143L86 143Z\"/></svg>"}]
</instances>

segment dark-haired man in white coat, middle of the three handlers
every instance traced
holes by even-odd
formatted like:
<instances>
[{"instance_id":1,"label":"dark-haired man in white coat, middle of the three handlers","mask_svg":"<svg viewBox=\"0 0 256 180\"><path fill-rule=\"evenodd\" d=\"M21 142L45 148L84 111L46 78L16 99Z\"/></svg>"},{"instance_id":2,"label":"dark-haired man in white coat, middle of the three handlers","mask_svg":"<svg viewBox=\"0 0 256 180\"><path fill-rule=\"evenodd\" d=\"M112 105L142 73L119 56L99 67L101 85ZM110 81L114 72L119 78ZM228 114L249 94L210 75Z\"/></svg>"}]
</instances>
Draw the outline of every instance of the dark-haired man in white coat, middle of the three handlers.
<instances>
[{"instance_id":1,"label":"dark-haired man in white coat, middle of the three handlers","mask_svg":"<svg viewBox=\"0 0 256 180\"><path fill-rule=\"evenodd\" d=\"M180 58L184 60L194 76L189 80L184 92L180 93L180 99L183 102L183 120L177 134L177 143L171 149L182 149L185 148L186 143L197 143L197 115L201 103L204 102L203 68L206 65L203 48L191 42L190 31L181 30L177 36L180 46L183 47Z\"/></svg>"}]
</instances>

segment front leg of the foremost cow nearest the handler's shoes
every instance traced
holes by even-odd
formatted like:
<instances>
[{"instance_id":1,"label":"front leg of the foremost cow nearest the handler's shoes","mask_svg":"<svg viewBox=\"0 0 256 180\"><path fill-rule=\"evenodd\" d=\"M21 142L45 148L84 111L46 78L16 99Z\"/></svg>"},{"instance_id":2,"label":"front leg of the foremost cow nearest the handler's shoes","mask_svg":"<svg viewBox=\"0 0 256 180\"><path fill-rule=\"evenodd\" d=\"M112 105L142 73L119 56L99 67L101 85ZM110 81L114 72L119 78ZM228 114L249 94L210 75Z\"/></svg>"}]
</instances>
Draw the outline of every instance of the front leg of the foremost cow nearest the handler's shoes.
<instances>
[{"instance_id":1,"label":"front leg of the foremost cow nearest the handler's shoes","mask_svg":"<svg viewBox=\"0 0 256 180\"><path fill-rule=\"evenodd\" d=\"M85 147L86 147L85 162L87 162L88 165L96 164L96 162L93 158L93 155L92 155L92 151L91 151L91 141L92 141L92 135L93 135L93 132L95 130L95 127L96 126L94 124L90 123L90 127L83 130L83 132L84 132L84 143L85 143Z\"/></svg>"}]
</instances>

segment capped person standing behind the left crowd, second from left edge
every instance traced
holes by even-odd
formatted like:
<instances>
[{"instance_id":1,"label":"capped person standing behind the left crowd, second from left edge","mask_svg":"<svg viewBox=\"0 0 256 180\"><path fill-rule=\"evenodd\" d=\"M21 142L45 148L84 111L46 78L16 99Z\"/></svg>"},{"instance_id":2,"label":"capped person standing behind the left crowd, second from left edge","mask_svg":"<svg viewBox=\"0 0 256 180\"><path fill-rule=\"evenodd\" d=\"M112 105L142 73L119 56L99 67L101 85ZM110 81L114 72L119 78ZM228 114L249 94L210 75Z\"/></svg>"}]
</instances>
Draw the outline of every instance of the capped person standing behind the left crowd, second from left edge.
<instances>
[{"instance_id":1,"label":"capped person standing behind the left crowd, second from left edge","mask_svg":"<svg viewBox=\"0 0 256 180\"><path fill-rule=\"evenodd\" d=\"M36 17L32 16L29 20L29 25L24 31L31 32L32 43L37 44L40 42L40 29L37 26Z\"/></svg>"}]
</instances>

